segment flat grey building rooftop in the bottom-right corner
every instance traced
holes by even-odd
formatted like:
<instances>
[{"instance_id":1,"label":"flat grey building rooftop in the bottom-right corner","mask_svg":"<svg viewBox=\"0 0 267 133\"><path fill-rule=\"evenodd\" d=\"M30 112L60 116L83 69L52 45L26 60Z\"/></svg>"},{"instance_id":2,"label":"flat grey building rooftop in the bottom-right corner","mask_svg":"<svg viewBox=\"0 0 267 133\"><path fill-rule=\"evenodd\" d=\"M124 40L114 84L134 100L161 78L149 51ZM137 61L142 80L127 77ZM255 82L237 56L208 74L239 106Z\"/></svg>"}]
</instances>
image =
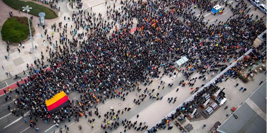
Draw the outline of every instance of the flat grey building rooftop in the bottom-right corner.
<instances>
[{"instance_id":1,"label":"flat grey building rooftop in the bottom-right corner","mask_svg":"<svg viewBox=\"0 0 267 133\"><path fill-rule=\"evenodd\" d=\"M217 132L266 132L266 81L233 114Z\"/></svg>"}]
</instances>

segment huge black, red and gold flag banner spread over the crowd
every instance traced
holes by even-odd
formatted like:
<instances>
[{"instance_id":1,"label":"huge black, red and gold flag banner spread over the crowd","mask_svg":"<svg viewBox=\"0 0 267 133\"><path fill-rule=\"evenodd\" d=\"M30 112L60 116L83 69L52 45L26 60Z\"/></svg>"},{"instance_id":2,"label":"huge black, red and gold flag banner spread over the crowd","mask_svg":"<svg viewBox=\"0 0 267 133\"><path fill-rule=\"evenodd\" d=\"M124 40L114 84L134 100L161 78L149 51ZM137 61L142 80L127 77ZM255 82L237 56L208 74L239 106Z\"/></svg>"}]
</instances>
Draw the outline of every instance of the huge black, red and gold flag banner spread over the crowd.
<instances>
[{"instance_id":1,"label":"huge black, red and gold flag banner spread over the crowd","mask_svg":"<svg viewBox=\"0 0 267 133\"><path fill-rule=\"evenodd\" d=\"M55 112L64 106L69 105L69 97L61 91L56 94L53 98L45 101L48 111Z\"/></svg>"}]
</instances>

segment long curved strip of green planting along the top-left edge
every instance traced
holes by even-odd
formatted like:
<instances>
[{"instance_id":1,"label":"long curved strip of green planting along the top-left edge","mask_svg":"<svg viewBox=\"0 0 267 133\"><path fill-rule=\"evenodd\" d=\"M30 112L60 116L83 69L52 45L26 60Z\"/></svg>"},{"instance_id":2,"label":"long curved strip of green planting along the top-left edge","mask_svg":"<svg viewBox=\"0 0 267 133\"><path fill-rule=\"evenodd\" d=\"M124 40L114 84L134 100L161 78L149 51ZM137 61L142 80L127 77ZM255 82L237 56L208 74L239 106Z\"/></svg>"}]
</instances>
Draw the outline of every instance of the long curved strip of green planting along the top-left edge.
<instances>
[{"instance_id":1,"label":"long curved strip of green planting along the top-left edge","mask_svg":"<svg viewBox=\"0 0 267 133\"><path fill-rule=\"evenodd\" d=\"M24 1L19 1L19 0L3 0L7 5L9 5L9 7L12 7L14 9L20 9L20 11L23 10L22 7L26 7L27 5L29 7L31 7L32 9L30 9L30 12L28 12L29 14L33 14L37 17L39 17L39 13L40 12L44 12L45 13L45 18L46 19L53 19L58 17L57 14L55 14L55 12L53 12L51 9L44 7L42 5L39 4L35 4L33 2L24 2ZM26 11L25 11L26 12Z\"/></svg>"}]
</instances>

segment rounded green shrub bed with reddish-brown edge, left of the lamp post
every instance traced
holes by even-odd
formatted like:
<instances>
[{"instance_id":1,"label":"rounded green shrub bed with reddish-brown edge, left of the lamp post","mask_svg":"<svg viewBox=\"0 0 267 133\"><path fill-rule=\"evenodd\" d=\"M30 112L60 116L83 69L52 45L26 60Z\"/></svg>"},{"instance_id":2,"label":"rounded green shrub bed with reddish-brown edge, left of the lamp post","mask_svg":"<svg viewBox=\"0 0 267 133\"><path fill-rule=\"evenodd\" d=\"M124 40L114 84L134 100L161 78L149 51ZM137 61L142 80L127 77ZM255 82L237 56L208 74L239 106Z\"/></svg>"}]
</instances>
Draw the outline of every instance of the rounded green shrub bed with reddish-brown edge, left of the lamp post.
<instances>
[{"instance_id":1,"label":"rounded green shrub bed with reddish-brown edge, left of the lamp post","mask_svg":"<svg viewBox=\"0 0 267 133\"><path fill-rule=\"evenodd\" d=\"M31 25L31 21L30 21ZM33 29L31 25L31 29ZM32 33L34 29L32 30ZM9 17L2 26L2 40L9 42L19 42L30 35L27 17Z\"/></svg>"}]
</instances>

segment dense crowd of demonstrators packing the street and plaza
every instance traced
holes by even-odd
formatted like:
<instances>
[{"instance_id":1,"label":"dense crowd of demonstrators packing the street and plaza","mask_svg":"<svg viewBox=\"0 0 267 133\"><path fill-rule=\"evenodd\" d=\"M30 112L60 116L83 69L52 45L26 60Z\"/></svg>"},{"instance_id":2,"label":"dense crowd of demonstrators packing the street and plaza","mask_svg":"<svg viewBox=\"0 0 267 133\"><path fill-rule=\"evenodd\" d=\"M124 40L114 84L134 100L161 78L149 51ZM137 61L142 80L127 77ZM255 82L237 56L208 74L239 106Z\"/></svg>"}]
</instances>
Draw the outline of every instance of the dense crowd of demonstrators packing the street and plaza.
<instances>
[{"instance_id":1,"label":"dense crowd of demonstrators packing the street and plaza","mask_svg":"<svg viewBox=\"0 0 267 133\"><path fill-rule=\"evenodd\" d=\"M82 2L76 2L76 8L80 9ZM185 64L186 68L180 70L186 77L180 84L193 87L197 79L207 80L206 74L214 75L228 66L225 62L242 56L249 50L255 38L266 29L263 17L260 20L253 19L252 15L246 13L248 9L242 6L244 1L241 1L241 7L235 6L237 9L240 8L241 12L233 10L234 15L226 22L215 21L211 25L208 25L209 20L205 20L203 15L196 17L190 8L194 4L197 5L196 8L201 8L201 12L205 12L216 4L211 1L125 0L120 3L123 6L119 9L115 9L115 4L113 7L107 6L106 14L96 15L87 9L73 12L72 19L68 18L65 21L72 20L74 25L63 22L62 27L62 23L58 24L60 39L55 41L55 51L46 43L50 55L47 61L50 62L51 70L41 67L36 70L35 67L30 67L30 80L22 84L22 92L18 92L19 95L14 101L18 108L16 111L23 108L25 111L28 110L31 123L34 122L33 117L36 122L40 118L45 123L53 121L57 126L66 119L70 121L73 116L79 121L79 112L92 116L88 108L96 108L99 102L104 104L105 100L115 97L124 100L132 90L141 91L140 83L150 85L152 78L161 79L164 75L175 75L174 63L182 56L189 60ZM74 2L72 4L74 5ZM138 22L137 28L134 34L131 34L135 20ZM70 31L67 30L68 27L71 27ZM52 25L51 28L56 33L56 25ZM51 38L53 39L54 32L50 34L45 29L44 32L48 44L52 46ZM258 54L258 58L266 58L266 55ZM43 66L43 60L42 56L35 64L40 65L42 62ZM229 70L225 75L234 75L234 71L240 66L237 64L235 69ZM160 68L163 68L163 72ZM194 72L200 72L202 76L194 78ZM222 76L214 84L223 79L226 81L227 77ZM164 83L162 86L164 88ZM134 100L134 103L140 104L146 98L146 93L151 93L148 90L150 89L144 90L139 96L139 101ZM70 101L69 106L50 113L45 100L61 91L66 94L81 93L81 100L78 102L82 103L82 106L74 106L74 101ZM159 93L152 93L149 95L150 98L157 97L158 100ZM168 101L170 103L172 99ZM101 114L96 113L101 118ZM117 112L118 115L119 113ZM119 118L112 109L105 115L104 120L109 119L109 116L114 120ZM120 125L116 121L112 123L110 130L112 126L117 128ZM125 120L122 124L125 129L147 129L145 124L142 126L140 123L138 126L137 121L133 124ZM109 124L101 125L103 129L107 126L109 127ZM161 126L163 129L166 128L163 122L148 131L155 132L155 128Z\"/></svg>"}]
</instances>

